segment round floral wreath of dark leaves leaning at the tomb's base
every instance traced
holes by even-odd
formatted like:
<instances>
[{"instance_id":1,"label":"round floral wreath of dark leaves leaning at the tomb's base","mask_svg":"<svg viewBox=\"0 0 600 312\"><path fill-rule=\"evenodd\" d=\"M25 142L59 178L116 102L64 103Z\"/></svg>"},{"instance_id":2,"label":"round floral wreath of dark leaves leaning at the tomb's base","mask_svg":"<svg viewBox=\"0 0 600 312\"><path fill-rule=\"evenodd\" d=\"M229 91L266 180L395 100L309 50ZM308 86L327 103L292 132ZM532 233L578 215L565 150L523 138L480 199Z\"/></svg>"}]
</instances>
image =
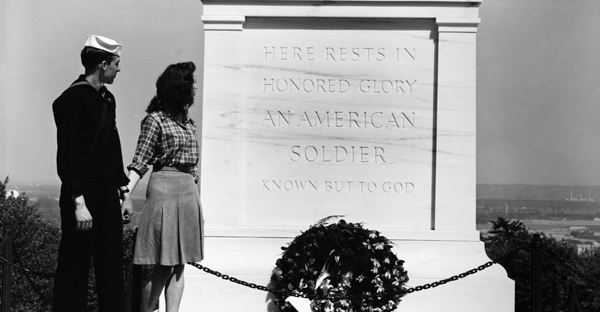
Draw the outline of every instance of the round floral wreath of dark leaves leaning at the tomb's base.
<instances>
[{"instance_id":1,"label":"round floral wreath of dark leaves leaning at the tomb's base","mask_svg":"<svg viewBox=\"0 0 600 312\"><path fill-rule=\"evenodd\" d=\"M393 243L361 223L326 224L337 217L320 220L281 247L271 276L282 290L274 299L281 312L296 311L286 301L292 293L306 295L319 312L393 311L406 294L407 272Z\"/></svg>"}]
</instances>

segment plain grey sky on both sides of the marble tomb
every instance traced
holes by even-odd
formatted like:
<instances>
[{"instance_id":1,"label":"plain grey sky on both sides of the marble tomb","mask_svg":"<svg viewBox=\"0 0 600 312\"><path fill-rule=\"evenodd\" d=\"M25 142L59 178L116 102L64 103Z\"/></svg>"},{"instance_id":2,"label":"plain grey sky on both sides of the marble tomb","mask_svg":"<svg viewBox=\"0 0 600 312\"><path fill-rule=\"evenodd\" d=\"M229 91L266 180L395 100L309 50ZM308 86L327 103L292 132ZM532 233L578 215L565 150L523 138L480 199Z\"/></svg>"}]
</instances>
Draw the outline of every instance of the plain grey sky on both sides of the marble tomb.
<instances>
[{"instance_id":1,"label":"plain grey sky on both sides of the marble tomb","mask_svg":"<svg viewBox=\"0 0 600 312\"><path fill-rule=\"evenodd\" d=\"M167 65L202 85L200 0L0 1L0 178L59 183L52 101L89 34L123 44L124 161ZM600 1L484 0L477 34L477 182L600 185ZM202 93L191 115L201 121Z\"/></svg>"}]
</instances>

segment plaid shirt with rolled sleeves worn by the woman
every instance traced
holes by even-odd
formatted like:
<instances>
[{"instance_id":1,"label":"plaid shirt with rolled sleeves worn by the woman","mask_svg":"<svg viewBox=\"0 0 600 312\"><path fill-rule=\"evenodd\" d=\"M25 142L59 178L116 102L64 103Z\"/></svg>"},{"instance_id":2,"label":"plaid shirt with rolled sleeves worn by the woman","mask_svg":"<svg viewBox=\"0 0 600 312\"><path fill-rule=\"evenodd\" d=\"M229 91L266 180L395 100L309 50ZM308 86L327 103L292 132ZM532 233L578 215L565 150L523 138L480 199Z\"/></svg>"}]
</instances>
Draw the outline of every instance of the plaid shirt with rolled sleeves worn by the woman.
<instances>
[{"instance_id":1,"label":"plaid shirt with rolled sleeves worn by the woman","mask_svg":"<svg viewBox=\"0 0 600 312\"><path fill-rule=\"evenodd\" d=\"M135 170L143 177L148 172L148 165L191 166L191 174L198 183L199 154L196 123L192 119L182 123L164 112L153 112L142 120L133 162L127 169Z\"/></svg>"}]
</instances>

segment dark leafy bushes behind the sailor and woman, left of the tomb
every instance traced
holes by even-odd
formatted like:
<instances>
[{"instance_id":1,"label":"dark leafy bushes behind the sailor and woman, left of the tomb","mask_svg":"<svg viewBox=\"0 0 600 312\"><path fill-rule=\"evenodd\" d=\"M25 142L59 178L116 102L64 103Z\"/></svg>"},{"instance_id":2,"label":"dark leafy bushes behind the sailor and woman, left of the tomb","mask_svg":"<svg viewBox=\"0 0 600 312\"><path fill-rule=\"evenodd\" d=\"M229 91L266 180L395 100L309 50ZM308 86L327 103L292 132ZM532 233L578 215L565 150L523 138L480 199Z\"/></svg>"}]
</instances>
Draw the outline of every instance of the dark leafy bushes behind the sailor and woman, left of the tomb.
<instances>
[{"instance_id":1,"label":"dark leafy bushes behind the sailor and woman, left of the tomb","mask_svg":"<svg viewBox=\"0 0 600 312\"><path fill-rule=\"evenodd\" d=\"M60 227L42 217L39 204L28 205L26 194L18 197L6 196L6 185L9 179L0 181L0 256L6 246L6 238L12 237L13 263L27 268L32 273L13 267L10 311L51 311L52 276L56 269L58 245L60 243ZM123 270L125 287L130 294L131 267L133 256L134 229L127 226L123 230ZM40 274L42 273L42 274ZM151 267L144 266L143 277L147 282ZM4 272L0 272L0 280ZM90 267L88 281L88 311L96 311L98 301L94 290L95 278L93 263ZM0 302L0 305L5 304Z\"/></svg>"}]
</instances>

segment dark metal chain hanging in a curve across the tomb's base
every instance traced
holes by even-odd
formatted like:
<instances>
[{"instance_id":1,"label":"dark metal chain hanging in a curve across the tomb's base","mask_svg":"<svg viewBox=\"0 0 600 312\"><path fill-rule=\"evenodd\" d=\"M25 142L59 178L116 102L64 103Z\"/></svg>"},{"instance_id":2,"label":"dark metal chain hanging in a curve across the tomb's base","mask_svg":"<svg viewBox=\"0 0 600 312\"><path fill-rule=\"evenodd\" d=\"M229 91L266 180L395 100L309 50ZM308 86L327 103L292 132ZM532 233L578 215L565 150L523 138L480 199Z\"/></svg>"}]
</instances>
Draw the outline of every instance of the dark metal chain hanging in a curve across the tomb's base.
<instances>
[{"instance_id":1,"label":"dark metal chain hanging in a curve across the tomb's base","mask_svg":"<svg viewBox=\"0 0 600 312\"><path fill-rule=\"evenodd\" d=\"M368 298L368 297L378 297L378 298L381 298L381 297L389 297L389 296L396 296L396 295L405 295L407 293L410 294L410 293L417 292L417 291L422 291L422 290L426 290L426 289L430 289L430 288L435 288L435 287L438 287L440 285L444 285L444 284L449 283L449 282L454 282L454 281L457 281L457 280L459 280L461 278L465 278L465 277L467 277L469 275L472 275L472 274L475 274L477 272L483 271L483 270L491 267L493 264L498 263L498 261L501 261L504 258L507 258L507 257L510 257L510 256L514 255L519 250L520 249L515 249L515 250L513 250L513 251L511 251L511 252L509 252L509 253L507 253L507 254L499 257L498 259L488 261L485 264L478 266L477 268L471 269L471 270L466 271L464 273L460 273L460 274L454 275L454 276L452 276L450 278L446 278L446 279L443 279L443 280L440 280L440 281L436 281L436 282L433 282L433 283L429 283L429 284L425 284L425 285L420 285L420 286L408 288L408 289L402 290L402 291L382 292L382 293L378 293L378 294L374 294L374 295L310 296L310 298L311 299L326 299L326 298L329 298L329 299L332 299L332 298L335 298L335 299L356 299L356 298ZM299 292L297 290L293 290L292 292L289 292L289 291L286 291L286 290L273 289L273 288L269 288L269 287L257 285L257 284L254 284L254 283L249 283L249 282L240 280L238 278L235 278L233 276L229 276L227 274L222 274L222 273L220 273L218 271L211 270L211 269L209 269L209 268L207 268L207 267L205 267L205 266L203 266L203 265L201 265L199 263L188 262L187 264L189 264L189 265L191 265L191 266L193 266L193 267L195 267L195 268L197 268L199 270L202 270L202 271L204 271L204 272L206 272L208 274L212 274L212 275L214 275L216 277L219 277L221 279L228 280L230 282L233 282L233 283L236 283L236 284L240 284L240 285L243 285L243 286L246 286L246 287L250 287L252 289L258 289L258 290L262 290L262 291L266 291L266 292L271 292L271 293L274 293L274 294L284 294L284 295L294 296L294 297L309 298L309 296L307 294Z\"/></svg>"}]
</instances>

